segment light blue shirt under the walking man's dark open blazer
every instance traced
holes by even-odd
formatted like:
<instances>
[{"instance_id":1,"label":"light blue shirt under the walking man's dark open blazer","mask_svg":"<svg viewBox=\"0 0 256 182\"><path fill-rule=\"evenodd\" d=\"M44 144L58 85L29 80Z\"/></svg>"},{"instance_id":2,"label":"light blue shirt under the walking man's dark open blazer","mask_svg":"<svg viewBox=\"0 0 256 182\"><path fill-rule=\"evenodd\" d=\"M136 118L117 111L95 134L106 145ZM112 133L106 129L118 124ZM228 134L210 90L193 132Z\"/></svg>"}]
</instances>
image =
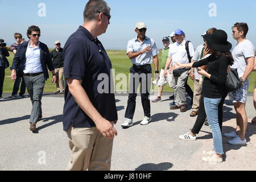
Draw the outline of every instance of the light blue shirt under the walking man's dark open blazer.
<instances>
[{"instance_id":1,"label":"light blue shirt under the walking man's dark open blazer","mask_svg":"<svg viewBox=\"0 0 256 182\"><path fill-rule=\"evenodd\" d=\"M26 51L26 63L25 63L25 68L23 70L24 73L43 72L39 44L40 43L38 42L38 46L33 48L32 46L30 46L30 42L28 43L27 51Z\"/></svg>"}]
</instances>

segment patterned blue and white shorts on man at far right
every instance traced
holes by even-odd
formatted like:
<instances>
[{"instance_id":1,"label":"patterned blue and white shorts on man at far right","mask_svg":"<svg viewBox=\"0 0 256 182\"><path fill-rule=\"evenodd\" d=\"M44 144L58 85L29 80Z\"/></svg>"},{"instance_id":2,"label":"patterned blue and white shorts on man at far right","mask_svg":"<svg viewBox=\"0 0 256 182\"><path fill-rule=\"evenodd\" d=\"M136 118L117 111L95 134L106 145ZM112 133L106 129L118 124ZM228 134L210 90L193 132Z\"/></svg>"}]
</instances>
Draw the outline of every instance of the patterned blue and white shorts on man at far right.
<instances>
[{"instance_id":1,"label":"patterned blue and white shorts on man at far right","mask_svg":"<svg viewBox=\"0 0 256 182\"><path fill-rule=\"evenodd\" d=\"M243 84L243 86L240 89L238 89L234 92L229 92L229 99L233 100L233 103L241 102L241 103L245 104L248 89L249 89L249 80L246 79L245 84Z\"/></svg>"}]
</instances>

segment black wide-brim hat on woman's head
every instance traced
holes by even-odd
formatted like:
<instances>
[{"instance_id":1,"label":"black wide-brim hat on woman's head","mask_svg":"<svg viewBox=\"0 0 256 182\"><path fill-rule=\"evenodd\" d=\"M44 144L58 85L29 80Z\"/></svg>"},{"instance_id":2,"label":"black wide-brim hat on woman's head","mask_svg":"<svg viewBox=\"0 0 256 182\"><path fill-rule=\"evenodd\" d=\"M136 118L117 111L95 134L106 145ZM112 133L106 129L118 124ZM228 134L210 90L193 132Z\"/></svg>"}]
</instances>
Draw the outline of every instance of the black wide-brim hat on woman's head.
<instances>
[{"instance_id":1,"label":"black wide-brim hat on woman's head","mask_svg":"<svg viewBox=\"0 0 256 182\"><path fill-rule=\"evenodd\" d=\"M210 49L227 52L232 48L232 44L228 42L228 35L224 30L216 30L213 34L205 34L203 38Z\"/></svg>"}]
</instances>

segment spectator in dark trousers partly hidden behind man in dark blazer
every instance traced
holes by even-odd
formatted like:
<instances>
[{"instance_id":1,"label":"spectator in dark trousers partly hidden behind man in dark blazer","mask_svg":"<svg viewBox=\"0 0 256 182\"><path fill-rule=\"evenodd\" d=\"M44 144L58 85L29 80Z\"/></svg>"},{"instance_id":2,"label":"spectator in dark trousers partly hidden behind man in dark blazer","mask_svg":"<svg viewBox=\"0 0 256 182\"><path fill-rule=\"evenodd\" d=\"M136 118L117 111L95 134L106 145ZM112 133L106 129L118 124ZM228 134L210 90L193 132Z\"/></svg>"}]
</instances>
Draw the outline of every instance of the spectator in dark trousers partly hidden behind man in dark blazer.
<instances>
[{"instance_id":1,"label":"spectator in dark trousers partly hidden behind man in dark blazer","mask_svg":"<svg viewBox=\"0 0 256 182\"><path fill-rule=\"evenodd\" d=\"M11 45L11 51L15 55L19 45L22 43L22 34L14 33L14 39L16 40L16 43ZM18 95L20 81L22 81L22 84L20 85L20 92L19 92L19 95ZM25 92L26 92L26 84L24 82L23 76L22 77L17 77L15 82L14 82L14 85L13 85L13 92L11 93L11 97L13 97L13 98L22 98L22 97L24 97Z\"/></svg>"}]
</instances>

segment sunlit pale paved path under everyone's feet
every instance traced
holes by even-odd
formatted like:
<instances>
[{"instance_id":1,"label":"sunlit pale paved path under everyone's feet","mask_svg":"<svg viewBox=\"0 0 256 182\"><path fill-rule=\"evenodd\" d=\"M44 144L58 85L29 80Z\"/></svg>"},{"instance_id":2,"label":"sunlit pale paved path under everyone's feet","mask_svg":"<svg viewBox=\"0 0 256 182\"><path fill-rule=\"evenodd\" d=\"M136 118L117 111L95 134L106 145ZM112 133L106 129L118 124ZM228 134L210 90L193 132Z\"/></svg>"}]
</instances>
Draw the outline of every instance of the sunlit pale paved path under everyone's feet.
<instances>
[{"instance_id":1,"label":"sunlit pale paved path under everyone's feet","mask_svg":"<svg viewBox=\"0 0 256 182\"><path fill-rule=\"evenodd\" d=\"M139 97L135 125L122 129L127 96L116 96L119 121L115 125L118 136L114 139L112 170L256 170L256 126L250 123L256 111L251 94L246 105L250 118L247 146L231 146L226 144L228 138L224 137L225 162L220 164L201 161L202 151L213 145L208 126L203 126L195 141L178 139L180 134L192 129L196 118L189 117L191 110L185 113L171 111L168 108L170 100L165 95L163 102L151 104L152 122L142 126L139 125L143 117ZM0 101L0 170L65 170L67 167L70 151L61 123L64 98L46 94L42 103L43 119L37 124L38 133L32 133L28 124L30 99ZM226 100L224 132L234 129L234 117L232 102Z\"/></svg>"}]
</instances>

